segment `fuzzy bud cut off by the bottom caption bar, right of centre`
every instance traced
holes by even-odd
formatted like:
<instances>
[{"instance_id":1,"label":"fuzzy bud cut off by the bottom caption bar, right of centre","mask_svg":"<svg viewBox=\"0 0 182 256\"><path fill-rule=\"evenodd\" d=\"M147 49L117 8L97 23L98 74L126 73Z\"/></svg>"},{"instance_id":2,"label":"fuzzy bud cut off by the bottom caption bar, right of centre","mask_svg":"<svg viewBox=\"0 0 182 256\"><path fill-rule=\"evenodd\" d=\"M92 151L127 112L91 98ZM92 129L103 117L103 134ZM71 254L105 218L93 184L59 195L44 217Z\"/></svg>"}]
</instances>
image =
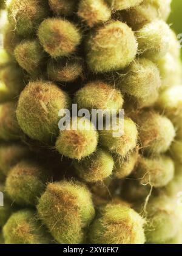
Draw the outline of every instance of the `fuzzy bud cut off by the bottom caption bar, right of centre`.
<instances>
[{"instance_id":1,"label":"fuzzy bud cut off by the bottom caption bar, right of centre","mask_svg":"<svg viewBox=\"0 0 182 256\"><path fill-rule=\"evenodd\" d=\"M89 240L93 244L143 244L144 220L124 204L107 204L90 226Z\"/></svg>"}]
</instances>

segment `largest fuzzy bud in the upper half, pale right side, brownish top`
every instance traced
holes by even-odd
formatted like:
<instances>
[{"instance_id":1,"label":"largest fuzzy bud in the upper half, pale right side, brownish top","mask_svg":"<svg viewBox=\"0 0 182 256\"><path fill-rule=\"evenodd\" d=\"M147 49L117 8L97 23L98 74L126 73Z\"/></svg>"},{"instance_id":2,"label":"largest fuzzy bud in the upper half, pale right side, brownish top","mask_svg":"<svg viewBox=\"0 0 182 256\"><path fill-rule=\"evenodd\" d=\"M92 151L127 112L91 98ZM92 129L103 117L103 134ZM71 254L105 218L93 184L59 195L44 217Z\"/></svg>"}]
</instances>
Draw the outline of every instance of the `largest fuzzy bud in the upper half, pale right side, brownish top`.
<instances>
[{"instance_id":1,"label":"largest fuzzy bud in the upper half, pale right side, brownish top","mask_svg":"<svg viewBox=\"0 0 182 256\"><path fill-rule=\"evenodd\" d=\"M123 69L134 60L137 47L130 27L112 21L96 29L87 40L87 63L95 73Z\"/></svg>"}]
</instances>

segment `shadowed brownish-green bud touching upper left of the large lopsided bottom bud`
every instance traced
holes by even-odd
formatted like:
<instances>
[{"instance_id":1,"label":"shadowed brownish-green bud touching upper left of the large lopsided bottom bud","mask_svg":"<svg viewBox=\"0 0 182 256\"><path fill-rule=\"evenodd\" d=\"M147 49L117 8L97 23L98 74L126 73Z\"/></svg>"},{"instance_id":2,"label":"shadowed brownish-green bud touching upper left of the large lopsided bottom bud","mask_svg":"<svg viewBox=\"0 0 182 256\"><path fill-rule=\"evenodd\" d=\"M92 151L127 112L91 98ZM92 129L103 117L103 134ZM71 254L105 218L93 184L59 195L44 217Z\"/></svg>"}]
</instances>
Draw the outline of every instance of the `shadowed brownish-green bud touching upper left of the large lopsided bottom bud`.
<instances>
[{"instance_id":1,"label":"shadowed brownish-green bud touching upper left of the large lopsided bottom bud","mask_svg":"<svg viewBox=\"0 0 182 256\"><path fill-rule=\"evenodd\" d=\"M8 173L5 191L16 204L35 206L49 179L49 172L44 167L36 162L23 160Z\"/></svg>"}]
</instances>

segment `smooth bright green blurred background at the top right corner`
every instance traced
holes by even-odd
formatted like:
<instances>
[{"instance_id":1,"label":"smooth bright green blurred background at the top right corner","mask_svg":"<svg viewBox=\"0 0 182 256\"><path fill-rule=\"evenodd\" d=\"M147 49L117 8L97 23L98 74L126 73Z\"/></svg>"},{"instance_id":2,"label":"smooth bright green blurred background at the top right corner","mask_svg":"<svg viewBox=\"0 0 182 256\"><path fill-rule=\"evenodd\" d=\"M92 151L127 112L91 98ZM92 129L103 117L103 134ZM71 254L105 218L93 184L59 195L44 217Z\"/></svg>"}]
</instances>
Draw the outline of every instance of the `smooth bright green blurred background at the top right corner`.
<instances>
[{"instance_id":1,"label":"smooth bright green blurred background at the top right corner","mask_svg":"<svg viewBox=\"0 0 182 256\"><path fill-rule=\"evenodd\" d=\"M178 34L182 33L182 0L172 0L172 12L169 17L171 28ZM182 57L182 48L181 48Z\"/></svg>"}]
</instances>

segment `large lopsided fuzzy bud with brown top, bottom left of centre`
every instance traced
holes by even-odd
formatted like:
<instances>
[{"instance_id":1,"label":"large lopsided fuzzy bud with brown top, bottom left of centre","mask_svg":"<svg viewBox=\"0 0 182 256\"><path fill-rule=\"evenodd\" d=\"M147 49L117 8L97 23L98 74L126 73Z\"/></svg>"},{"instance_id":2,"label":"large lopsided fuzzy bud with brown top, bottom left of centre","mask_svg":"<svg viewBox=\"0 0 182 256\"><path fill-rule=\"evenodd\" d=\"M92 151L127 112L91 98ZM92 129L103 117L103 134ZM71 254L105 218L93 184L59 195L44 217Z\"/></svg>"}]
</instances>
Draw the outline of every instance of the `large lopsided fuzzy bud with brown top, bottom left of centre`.
<instances>
[{"instance_id":1,"label":"large lopsided fuzzy bud with brown top, bottom left of centre","mask_svg":"<svg viewBox=\"0 0 182 256\"><path fill-rule=\"evenodd\" d=\"M41 220L59 243L83 243L84 228L95 215L89 190L78 182L50 183L37 208Z\"/></svg>"}]
</instances>

